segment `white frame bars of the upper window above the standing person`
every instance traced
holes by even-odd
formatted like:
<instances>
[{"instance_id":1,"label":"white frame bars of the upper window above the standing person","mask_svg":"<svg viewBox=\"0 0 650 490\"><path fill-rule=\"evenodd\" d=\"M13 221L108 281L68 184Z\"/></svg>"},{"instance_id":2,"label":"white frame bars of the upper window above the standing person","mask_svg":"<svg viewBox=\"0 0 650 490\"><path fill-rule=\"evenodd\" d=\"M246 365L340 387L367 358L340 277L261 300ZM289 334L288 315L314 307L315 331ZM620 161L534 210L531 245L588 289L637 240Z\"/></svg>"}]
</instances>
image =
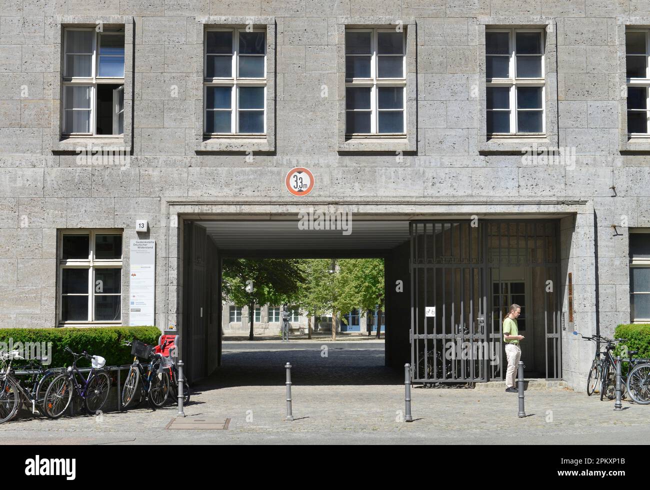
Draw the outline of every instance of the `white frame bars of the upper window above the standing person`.
<instances>
[{"instance_id":1,"label":"white frame bars of the upper window above the standing person","mask_svg":"<svg viewBox=\"0 0 650 490\"><path fill-rule=\"evenodd\" d=\"M486 89L489 87L505 87L510 89L510 133L487 133L488 137L493 136L544 136L546 134L546 71L545 71L545 31L544 29L486 29L487 32L508 32L508 78L486 78ZM517 78L517 32L538 32L541 35L541 75L534 78ZM486 62L488 55L486 53ZM519 55L526 56L526 55ZM539 55L530 55L539 56ZM487 75L486 75L487 76ZM541 112L541 133L519 133L517 125L517 87L534 86L541 87L541 109L522 109L526 111L538 110ZM504 112L506 109L487 109L487 112Z\"/></svg>"}]
</instances>

